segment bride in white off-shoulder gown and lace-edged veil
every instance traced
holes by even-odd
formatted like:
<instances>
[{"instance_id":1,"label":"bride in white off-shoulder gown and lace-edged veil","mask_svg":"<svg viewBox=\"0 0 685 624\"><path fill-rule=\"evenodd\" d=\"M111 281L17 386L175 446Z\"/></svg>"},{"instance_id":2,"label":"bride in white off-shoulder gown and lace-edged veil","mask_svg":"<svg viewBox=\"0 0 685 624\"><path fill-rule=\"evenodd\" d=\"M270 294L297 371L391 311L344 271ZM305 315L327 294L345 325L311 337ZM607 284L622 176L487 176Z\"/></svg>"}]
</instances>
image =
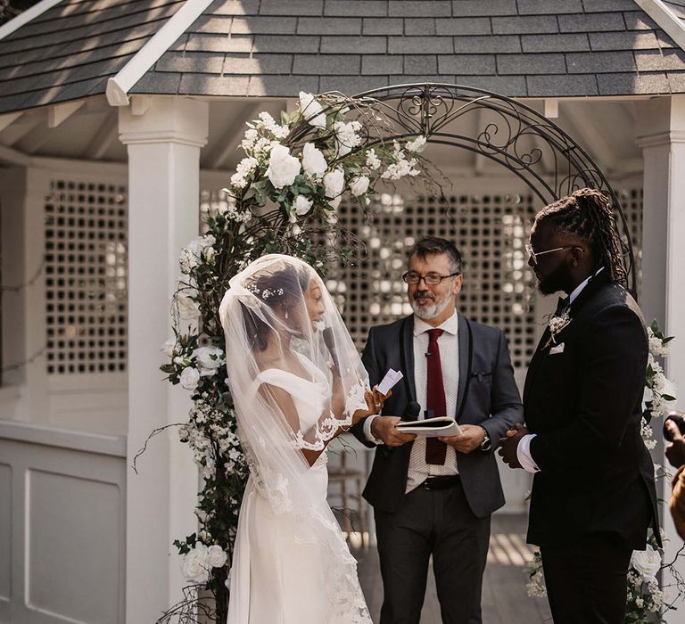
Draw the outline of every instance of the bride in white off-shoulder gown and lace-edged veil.
<instances>
[{"instance_id":1,"label":"bride in white off-shoulder gown and lace-edged veil","mask_svg":"<svg viewBox=\"0 0 685 624\"><path fill-rule=\"evenodd\" d=\"M228 385L250 464L229 624L371 624L356 562L326 503L326 445L384 397L314 270L252 262L219 308Z\"/></svg>"}]
</instances>

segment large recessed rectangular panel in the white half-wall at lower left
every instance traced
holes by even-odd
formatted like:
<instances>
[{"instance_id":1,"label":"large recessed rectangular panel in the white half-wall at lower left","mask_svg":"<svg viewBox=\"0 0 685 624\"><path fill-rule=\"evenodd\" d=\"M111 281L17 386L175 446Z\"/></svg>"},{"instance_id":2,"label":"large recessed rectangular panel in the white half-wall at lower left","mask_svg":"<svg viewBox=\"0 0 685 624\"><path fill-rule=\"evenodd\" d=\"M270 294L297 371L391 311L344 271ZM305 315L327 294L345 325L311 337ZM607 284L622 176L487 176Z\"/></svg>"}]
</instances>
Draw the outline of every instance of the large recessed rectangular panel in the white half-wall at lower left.
<instances>
[{"instance_id":1,"label":"large recessed rectangular panel in the white half-wall at lower left","mask_svg":"<svg viewBox=\"0 0 685 624\"><path fill-rule=\"evenodd\" d=\"M116 623L123 556L119 487L36 470L27 473L27 487L29 609L92 624Z\"/></svg>"}]
</instances>

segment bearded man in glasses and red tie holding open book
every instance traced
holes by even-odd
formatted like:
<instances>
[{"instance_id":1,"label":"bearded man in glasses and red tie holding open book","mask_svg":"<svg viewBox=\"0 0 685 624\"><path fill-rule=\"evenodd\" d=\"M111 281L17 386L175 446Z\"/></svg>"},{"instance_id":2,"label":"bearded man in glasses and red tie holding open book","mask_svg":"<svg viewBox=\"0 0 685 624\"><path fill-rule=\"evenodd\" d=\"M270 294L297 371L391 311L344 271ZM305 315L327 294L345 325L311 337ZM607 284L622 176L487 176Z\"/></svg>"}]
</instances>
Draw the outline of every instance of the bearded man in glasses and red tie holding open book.
<instances>
[{"instance_id":1,"label":"bearded man in glasses and red tie holding open book","mask_svg":"<svg viewBox=\"0 0 685 624\"><path fill-rule=\"evenodd\" d=\"M445 624L481 622L491 513L504 505L493 441L521 418L507 341L456 311L463 283L454 243L426 237L402 275L414 314L373 327L362 361L372 385L404 377L381 415L352 428L376 456L364 497L374 507L384 585L381 624L418 624L428 563ZM425 438L400 420L450 415L460 435Z\"/></svg>"}]
</instances>

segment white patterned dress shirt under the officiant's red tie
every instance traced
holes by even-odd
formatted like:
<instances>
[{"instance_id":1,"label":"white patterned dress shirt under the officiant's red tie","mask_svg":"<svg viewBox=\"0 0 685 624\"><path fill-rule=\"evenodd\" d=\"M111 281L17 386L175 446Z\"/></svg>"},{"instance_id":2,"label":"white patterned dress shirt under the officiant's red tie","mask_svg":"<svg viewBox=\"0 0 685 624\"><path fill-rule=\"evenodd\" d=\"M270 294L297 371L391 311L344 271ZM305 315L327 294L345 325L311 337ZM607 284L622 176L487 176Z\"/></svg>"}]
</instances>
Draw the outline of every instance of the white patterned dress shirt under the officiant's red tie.
<instances>
[{"instance_id":1,"label":"white patterned dress shirt under the officiant's red tie","mask_svg":"<svg viewBox=\"0 0 685 624\"><path fill-rule=\"evenodd\" d=\"M442 329L438 339L440 348L440 362L442 365L442 385L445 389L445 406L447 414L457 414L457 394L459 382L459 341L458 341L458 314L455 312L450 318L434 329ZM417 403L421 406L419 418L424 417L426 409L426 385L428 381L428 364L425 354L428 351L428 330L433 329L417 316L414 316L414 385L417 391ZM376 416L369 416L364 423L364 433L367 439L382 444L380 439L374 438L371 433L371 423ZM409 456L409 471L407 472L406 492L417 488L428 477L458 474L457 452L453 447L447 447L445 463L441 465L425 463L425 438L417 437L411 448Z\"/></svg>"}]
</instances>

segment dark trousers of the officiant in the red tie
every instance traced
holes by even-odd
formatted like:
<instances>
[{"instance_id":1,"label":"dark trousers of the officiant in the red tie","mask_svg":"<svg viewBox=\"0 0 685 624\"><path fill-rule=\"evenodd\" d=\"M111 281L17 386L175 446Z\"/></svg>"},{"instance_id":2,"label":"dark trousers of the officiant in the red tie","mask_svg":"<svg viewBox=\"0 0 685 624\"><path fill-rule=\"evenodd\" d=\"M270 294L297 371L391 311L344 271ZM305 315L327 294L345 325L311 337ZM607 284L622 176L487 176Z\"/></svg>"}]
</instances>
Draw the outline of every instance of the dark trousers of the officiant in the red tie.
<instances>
[{"instance_id":1,"label":"dark trousers of the officiant in the red tie","mask_svg":"<svg viewBox=\"0 0 685 624\"><path fill-rule=\"evenodd\" d=\"M480 624L490 516L475 517L461 484L430 491L419 486L400 511L376 511L375 518L381 624L418 624L431 555L443 624Z\"/></svg>"}]
</instances>

